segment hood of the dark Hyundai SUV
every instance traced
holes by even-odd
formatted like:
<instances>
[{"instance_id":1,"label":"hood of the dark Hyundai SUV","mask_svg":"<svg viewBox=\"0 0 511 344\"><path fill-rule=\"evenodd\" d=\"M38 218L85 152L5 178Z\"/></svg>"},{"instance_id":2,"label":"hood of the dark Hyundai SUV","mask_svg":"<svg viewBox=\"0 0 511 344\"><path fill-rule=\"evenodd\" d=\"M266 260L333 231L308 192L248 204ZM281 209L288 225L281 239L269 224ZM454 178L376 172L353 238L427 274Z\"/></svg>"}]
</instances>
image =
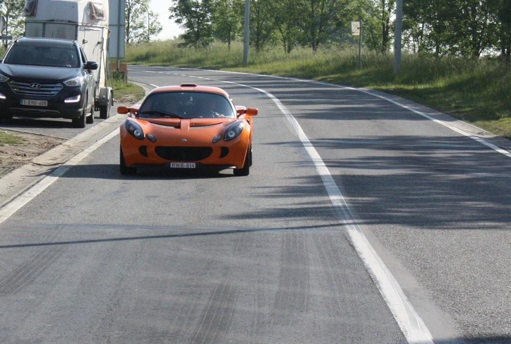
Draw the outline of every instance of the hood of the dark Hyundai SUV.
<instances>
[{"instance_id":1,"label":"hood of the dark Hyundai SUV","mask_svg":"<svg viewBox=\"0 0 511 344\"><path fill-rule=\"evenodd\" d=\"M30 81L65 81L80 75L79 68L62 68L47 66L26 66L18 64L0 64L0 71L12 79Z\"/></svg>"}]
</instances>

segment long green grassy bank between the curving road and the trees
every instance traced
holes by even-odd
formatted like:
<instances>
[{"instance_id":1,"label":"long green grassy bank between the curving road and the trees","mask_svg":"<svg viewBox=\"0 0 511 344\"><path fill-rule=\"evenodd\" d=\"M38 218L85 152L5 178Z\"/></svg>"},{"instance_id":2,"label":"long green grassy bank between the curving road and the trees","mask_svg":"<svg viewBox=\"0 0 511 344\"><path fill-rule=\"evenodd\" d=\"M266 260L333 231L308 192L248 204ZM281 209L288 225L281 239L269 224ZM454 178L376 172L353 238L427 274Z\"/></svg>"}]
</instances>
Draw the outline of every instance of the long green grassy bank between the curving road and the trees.
<instances>
[{"instance_id":1,"label":"long green grassy bank between the curving road and the trees","mask_svg":"<svg viewBox=\"0 0 511 344\"><path fill-rule=\"evenodd\" d=\"M130 64L225 69L291 76L331 83L369 87L401 95L452 116L511 138L511 67L496 59L433 58L404 55L402 72L394 77L392 55L364 52L362 68L357 52L331 48L313 53L298 48L251 51L250 64L242 64L242 45L229 51L225 44L208 48L179 48L175 41L128 47Z\"/></svg>"}]
</instances>

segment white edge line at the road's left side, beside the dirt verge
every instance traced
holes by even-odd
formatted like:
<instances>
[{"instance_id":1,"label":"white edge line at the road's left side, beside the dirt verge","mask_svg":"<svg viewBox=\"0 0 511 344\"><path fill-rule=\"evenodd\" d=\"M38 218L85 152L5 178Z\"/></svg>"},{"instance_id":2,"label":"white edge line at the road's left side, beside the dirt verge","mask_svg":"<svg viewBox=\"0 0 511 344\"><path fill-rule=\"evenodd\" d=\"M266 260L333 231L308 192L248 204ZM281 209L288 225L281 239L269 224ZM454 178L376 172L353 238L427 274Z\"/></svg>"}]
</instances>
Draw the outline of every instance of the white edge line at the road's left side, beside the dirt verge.
<instances>
[{"instance_id":1,"label":"white edge line at the road's left side, beside the dirt verge","mask_svg":"<svg viewBox=\"0 0 511 344\"><path fill-rule=\"evenodd\" d=\"M96 151L103 143L107 142L112 137L118 134L119 129L115 128L109 134L103 136L95 143L92 143L90 146L88 146L86 149L75 155L73 158L67 160L63 165L56 168L51 174L41 179L37 184L32 186L30 189L28 189L27 191L16 197L14 200L0 208L0 224L7 220L21 207L25 206L27 203L36 198L37 195L39 195L47 187L52 185L57 179L62 177L62 175L66 173L69 168L80 163L80 161L82 161L90 153Z\"/></svg>"}]
</instances>

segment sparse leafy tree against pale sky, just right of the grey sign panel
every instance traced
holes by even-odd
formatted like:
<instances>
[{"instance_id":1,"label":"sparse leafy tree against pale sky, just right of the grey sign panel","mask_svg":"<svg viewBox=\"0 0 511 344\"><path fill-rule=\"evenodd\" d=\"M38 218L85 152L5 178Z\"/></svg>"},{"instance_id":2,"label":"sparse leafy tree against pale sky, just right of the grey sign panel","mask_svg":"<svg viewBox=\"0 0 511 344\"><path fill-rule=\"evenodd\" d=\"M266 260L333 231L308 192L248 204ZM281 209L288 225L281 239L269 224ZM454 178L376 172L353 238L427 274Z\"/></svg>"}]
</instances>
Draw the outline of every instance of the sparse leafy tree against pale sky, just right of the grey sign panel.
<instances>
[{"instance_id":1,"label":"sparse leafy tree against pale sky, just right of the grey sign panel","mask_svg":"<svg viewBox=\"0 0 511 344\"><path fill-rule=\"evenodd\" d=\"M126 43L147 42L162 30L158 14L149 8L149 0L126 0L125 14Z\"/></svg>"}]
</instances>

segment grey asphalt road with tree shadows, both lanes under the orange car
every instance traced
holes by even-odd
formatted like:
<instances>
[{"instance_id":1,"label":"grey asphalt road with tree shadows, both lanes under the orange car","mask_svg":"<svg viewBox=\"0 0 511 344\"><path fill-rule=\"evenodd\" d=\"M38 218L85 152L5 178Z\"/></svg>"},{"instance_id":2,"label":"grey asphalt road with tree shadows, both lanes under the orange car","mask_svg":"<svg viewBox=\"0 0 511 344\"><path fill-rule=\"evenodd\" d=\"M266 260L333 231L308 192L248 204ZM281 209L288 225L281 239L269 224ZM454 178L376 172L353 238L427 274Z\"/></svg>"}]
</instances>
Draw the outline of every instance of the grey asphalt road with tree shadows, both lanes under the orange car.
<instances>
[{"instance_id":1,"label":"grey asphalt road with tree shadows, both lanes under the orange car","mask_svg":"<svg viewBox=\"0 0 511 344\"><path fill-rule=\"evenodd\" d=\"M122 177L100 146L0 224L0 342L405 342L281 110L191 76L283 103L435 342L511 341L509 158L355 90L135 69L258 107L251 174Z\"/></svg>"}]
</instances>

